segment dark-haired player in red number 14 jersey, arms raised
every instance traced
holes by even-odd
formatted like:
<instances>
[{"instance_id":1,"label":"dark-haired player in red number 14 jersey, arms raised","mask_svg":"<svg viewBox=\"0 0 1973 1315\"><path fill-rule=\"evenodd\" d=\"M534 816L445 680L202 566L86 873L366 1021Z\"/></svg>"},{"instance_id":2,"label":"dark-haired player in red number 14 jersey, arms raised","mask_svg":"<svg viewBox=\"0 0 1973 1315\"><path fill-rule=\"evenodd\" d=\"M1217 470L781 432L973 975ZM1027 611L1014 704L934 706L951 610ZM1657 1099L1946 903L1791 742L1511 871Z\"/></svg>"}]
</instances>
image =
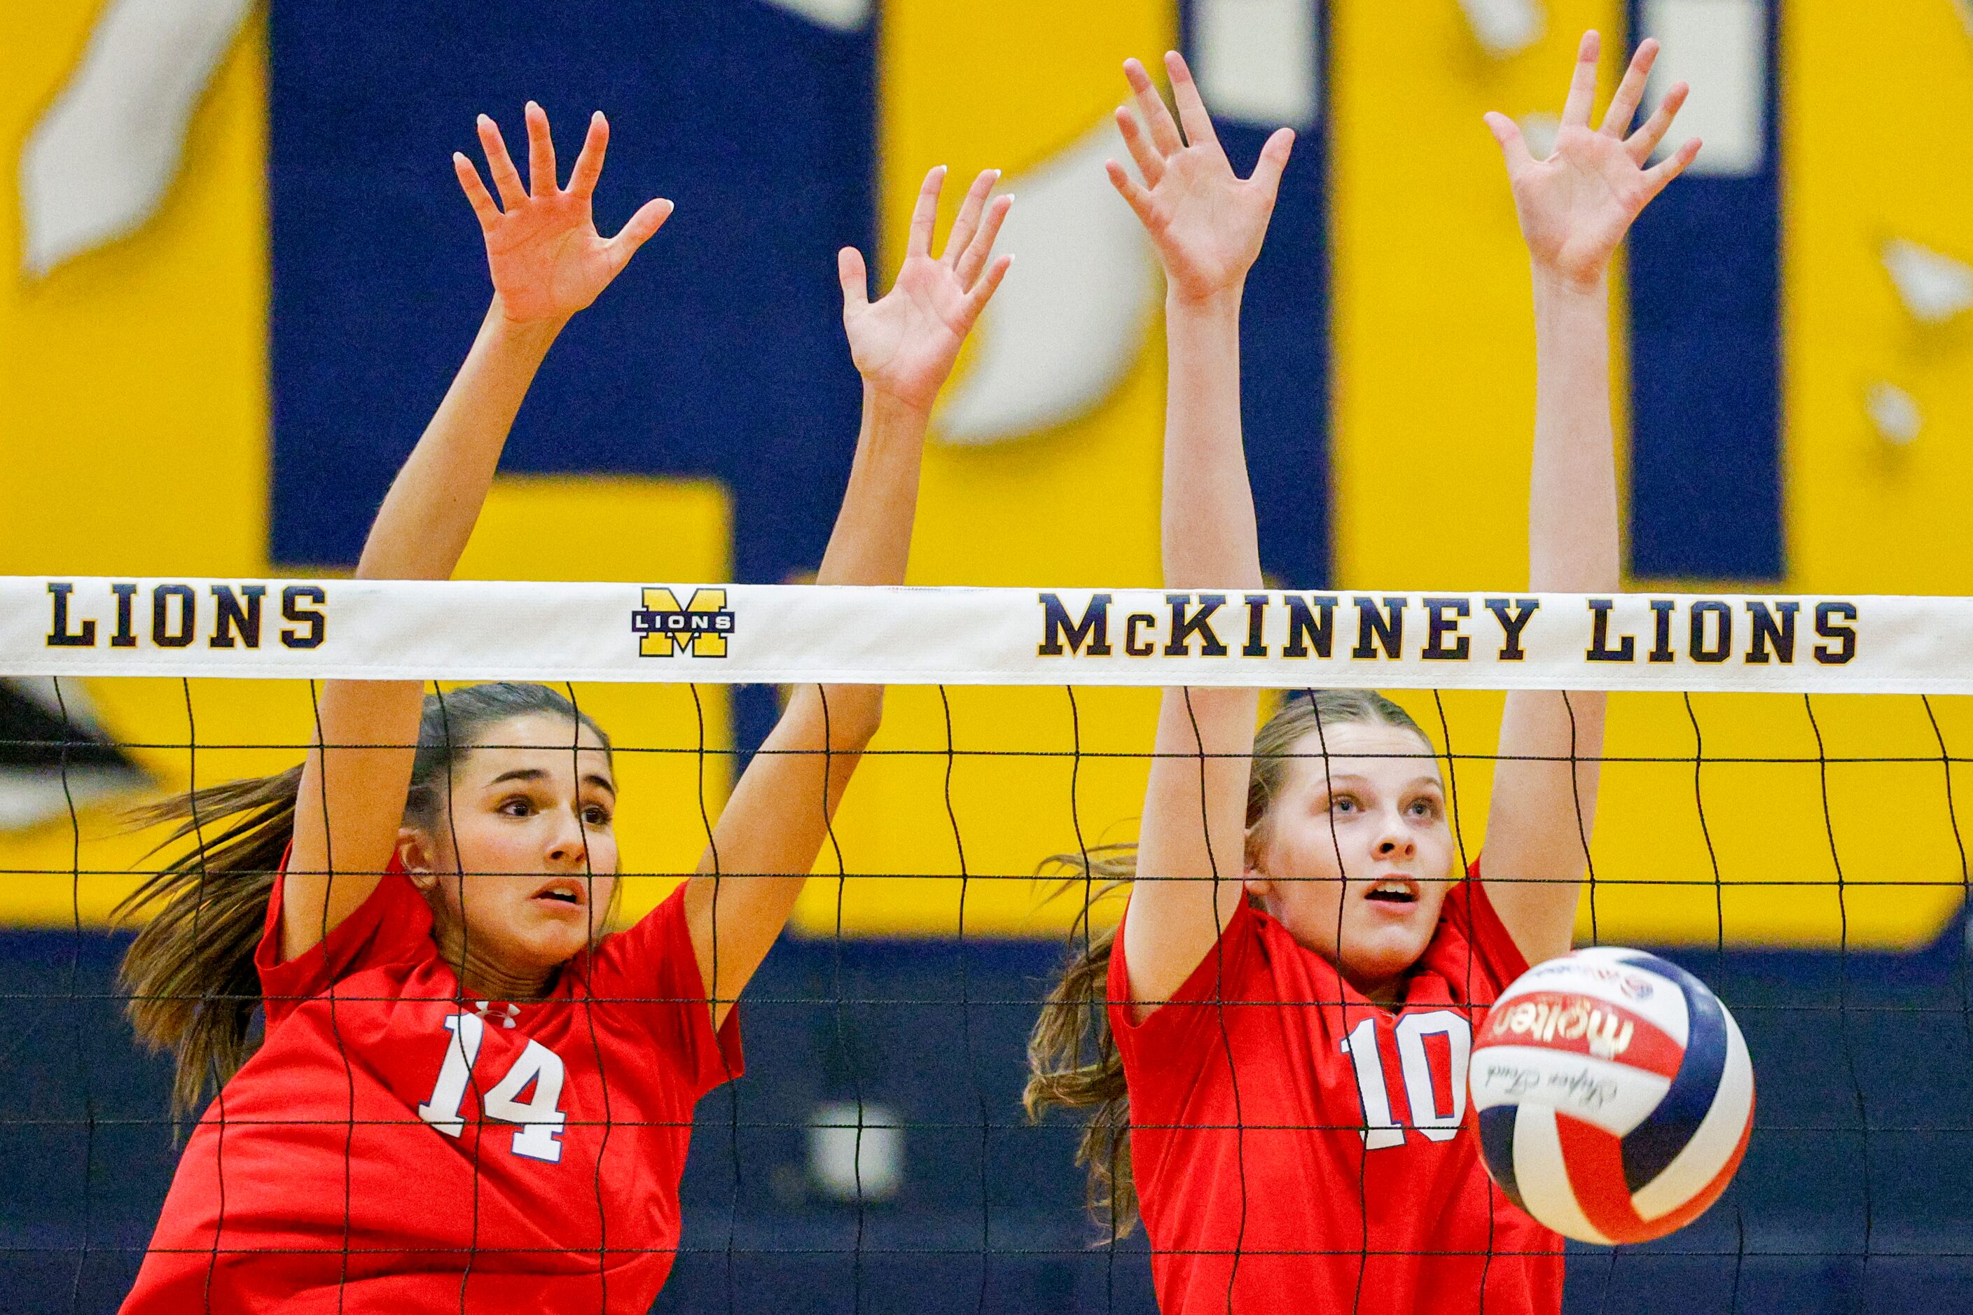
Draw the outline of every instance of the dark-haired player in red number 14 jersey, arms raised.
<instances>
[{"instance_id":1,"label":"dark-haired player in red number 14 jersey, arms raised","mask_svg":"<svg viewBox=\"0 0 1973 1315\"><path fill-rule=\"evenodd\" d=\"M527 126L531 187L479 120L499 203L456 158L493 306L359 578L452 574L556 331L671 211L651 201L598 237L602 114L566 189L535 104ZM994 173L931 254L943 177L925 179L890 296L868 302L856 250L839 260L864 416L823 584L902 584L925 418L1010 260L990 258L1008 209L988 201ZM199 852L138 897L162 903L124 970L140 1033L178 1051L182 1108L209 1076L231 1080L189 1138L124 1311L645 1311L679 1242L693 1106L740 1073L734 998L801 891L880 700L874 686L797 690L700 875L602 934L618 798L594 722L533 684L426 700L416 682L328 682L329 747L187 802Z\"/></svg>"}]
</instances>

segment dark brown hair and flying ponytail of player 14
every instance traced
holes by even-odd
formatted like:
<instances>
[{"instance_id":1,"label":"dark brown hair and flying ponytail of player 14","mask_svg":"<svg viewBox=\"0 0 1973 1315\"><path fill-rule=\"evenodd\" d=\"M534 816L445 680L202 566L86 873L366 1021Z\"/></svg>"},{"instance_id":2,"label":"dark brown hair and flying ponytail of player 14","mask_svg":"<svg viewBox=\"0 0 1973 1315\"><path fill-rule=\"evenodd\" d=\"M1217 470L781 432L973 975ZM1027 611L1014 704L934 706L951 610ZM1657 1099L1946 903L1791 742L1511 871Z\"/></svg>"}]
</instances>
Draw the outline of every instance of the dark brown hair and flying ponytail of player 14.
<instances>
[{"instance_id":1,"label":"dark brown hair and flying ponytail of player 14","mask_svg":"<svg viewBox=\"0 0 1973 1315\"><path fill-rule=\"evenodd\" d=\"M580 724L604 749L610 737L568 698L545 684L472 684L428 694L418 718L404 822L438 824L446 779L481 733L511 718L550 714ZM249 1035L260 1007L255 948L266 927L274 873L294 838L294 800L302 769L227 781L132 814L138 830L178 822L152 854L189 846L148 875L112 917L150 921L124 952L118 982L136 1035L152 1051L172 1051L174 1116L191 1116L207 1088L239 1073L256 1041Z\"/></svg>"}]
</instances>

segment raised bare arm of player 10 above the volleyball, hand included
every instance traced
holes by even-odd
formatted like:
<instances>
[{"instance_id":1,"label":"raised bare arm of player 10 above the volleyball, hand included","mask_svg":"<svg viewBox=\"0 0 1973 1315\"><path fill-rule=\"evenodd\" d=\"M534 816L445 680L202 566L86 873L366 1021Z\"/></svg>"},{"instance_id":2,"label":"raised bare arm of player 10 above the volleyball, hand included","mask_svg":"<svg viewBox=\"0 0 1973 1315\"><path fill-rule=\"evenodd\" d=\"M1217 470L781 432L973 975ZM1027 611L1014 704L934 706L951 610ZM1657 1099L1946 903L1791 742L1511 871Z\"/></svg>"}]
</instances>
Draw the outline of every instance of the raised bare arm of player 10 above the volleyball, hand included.
<instances>
[{"instance_id":1,"label":"raised bare arm of player 10 above the volleyball, hand included","mask_svg":"<svg viewBox=\"0 0 1973 1315\"><path fill-rule=\"evenodd\" d=\"M1555 152L1535 160L1505 114L1488 114L1513 185L1535 278L1535 453L1527 497L1529 588L1618 588L1610 426L1610 258L1632 221L1699 142L1651 152L1685 101L1675 85L1636 132L1657 43L1644 41L1600 128L1590 128L1598 37L1584 34ZM1604 741L1604 694L1517 690L1499 724L1488 816L1488 897L1529 962L1567 954L1588 865Z\"/></svg>"}]
</instances>

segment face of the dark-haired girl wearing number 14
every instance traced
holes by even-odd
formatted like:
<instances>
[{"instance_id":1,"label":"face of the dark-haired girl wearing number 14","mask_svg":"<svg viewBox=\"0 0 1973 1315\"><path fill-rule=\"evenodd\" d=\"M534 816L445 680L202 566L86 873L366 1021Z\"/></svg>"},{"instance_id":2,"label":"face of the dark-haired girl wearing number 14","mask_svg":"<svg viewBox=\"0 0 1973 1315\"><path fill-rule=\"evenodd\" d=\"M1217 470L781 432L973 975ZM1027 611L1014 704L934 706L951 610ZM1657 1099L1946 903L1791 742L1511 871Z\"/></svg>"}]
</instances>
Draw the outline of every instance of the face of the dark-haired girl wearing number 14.
<instances>
[{"instance_id":1,"label":"face of the dark-haired girl wearing number 14","mask_svg":"<svg viewBox=\"0 0 1973 1315\"><path fill-rule=\"evenodd\" d=\"M552 714L487 727L452 765L450 810L399 836L446 956L539 978L588 946L616 889L614 814L610 753L588 727L576 739Z\"/></svg>"}]
</instances>

